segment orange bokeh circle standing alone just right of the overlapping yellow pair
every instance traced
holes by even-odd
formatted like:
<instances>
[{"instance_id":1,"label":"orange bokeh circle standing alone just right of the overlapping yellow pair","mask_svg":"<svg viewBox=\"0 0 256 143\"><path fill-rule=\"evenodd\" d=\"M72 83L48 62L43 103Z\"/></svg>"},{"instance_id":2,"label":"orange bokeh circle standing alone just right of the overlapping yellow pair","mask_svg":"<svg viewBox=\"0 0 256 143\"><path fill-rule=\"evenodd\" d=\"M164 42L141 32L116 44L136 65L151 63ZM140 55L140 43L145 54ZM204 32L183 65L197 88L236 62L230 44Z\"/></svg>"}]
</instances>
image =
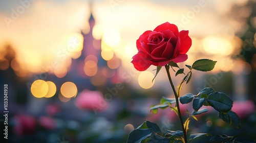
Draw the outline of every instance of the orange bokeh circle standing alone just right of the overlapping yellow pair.
<instances>
[{"instance_id":1,"label":"orange bokeh circle standing alone just right of the overlapping yellow pair","mask_svg":"<svg viewBox=\"0 0 256 143\"><path fill-rule=\"evenodd\" d=\"M77 94L77 87L73 82L65 82L61 85L60 92L62 96L72 98Z\"/></svg>"}]
</instances>

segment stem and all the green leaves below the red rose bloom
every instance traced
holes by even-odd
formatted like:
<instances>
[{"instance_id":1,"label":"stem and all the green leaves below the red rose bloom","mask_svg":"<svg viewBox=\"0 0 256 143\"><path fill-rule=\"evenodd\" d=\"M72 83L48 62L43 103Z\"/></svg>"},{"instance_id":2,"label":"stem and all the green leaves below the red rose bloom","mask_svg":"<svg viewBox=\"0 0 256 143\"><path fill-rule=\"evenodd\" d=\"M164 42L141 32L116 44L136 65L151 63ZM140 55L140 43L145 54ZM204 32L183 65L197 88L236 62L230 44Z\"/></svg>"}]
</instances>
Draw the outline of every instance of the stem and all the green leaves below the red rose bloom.
<instances>
[{"instance_id":1,"label":"stem and all the green leaves below the red rose bloom","mask_svg":"<svg viewBox=\"0 0 256 143\"><path fill-rule=\"evenodd\" d=\"M186 139L186 134L188 130L188 125L190 122L190 117L193 117L195 120L198 121L196 115L202 114L204 112L207 112L208 109L202 108L204 106L211 106L215 110L219 112L219 117L225 121L226 123L239 128L240 126L240 120L238 118L238 115L231 111L233 101L222 92L216 92L212 88L204 88L201 90L197 95L187 93L184 96L180 97L180 91L182 89L182 84L186 82L186 84L190 81L192 77L192 69L200 70L200 71L210 71L214 68L216 64L216 61L212 61L209 59L200 59L193 63L193 65L186 65L190 70L187 74L184 73L184 68L180 68L177 63L174 63L173 61L170 61L167 65L165 65L167 75L169 77L170 84L172 85L172 88L174 92L176 93L174 89L174 85L172 83L172 79L170 78L169 74L169 67L171 67L174 72L176 73L175 76L178 76L180 74L184 74L185 77L181 81L181 83L177 86L177 93L176 98L165 98L162 97L160 100L160 104L158 105L152 105L150 110L154 114L158 112L158 109L165 109L165 108L171 108L173 111L176 112L178 116L180 115L179 106L177 106L176 100L178 102L178 99L180 100L181 104L187 104L190 102L193 102L193 109L194 111L190 114L187 110L187 120L183 123L180 118L181 123L183 123L183 131L170 131L166 130L167 133L163 135L160 128L150 121L146 121L143 124L141 124L137 129L133 130L127 139L127 143L130 142L193 142L196 139L208 136L210 134L207 133L197 133L197 134L190 134L190 138ZM175 71L174 67L179 68L177 72ZM156 68L156 75L154 79L156 78L157 74L159 73L161 69L161 66L157 66ZM154 80L153 79L153 80ZM152 82L153 82L152 80ZM180 97L180 98L179 98ZM172 106L172 104L176 104L175 106ZM253 138L251 138L248 135L238 135L238 136L226 136L226 135L217 135L210 139L211 142L254 142Z\"/></svg>"}]
</instances>

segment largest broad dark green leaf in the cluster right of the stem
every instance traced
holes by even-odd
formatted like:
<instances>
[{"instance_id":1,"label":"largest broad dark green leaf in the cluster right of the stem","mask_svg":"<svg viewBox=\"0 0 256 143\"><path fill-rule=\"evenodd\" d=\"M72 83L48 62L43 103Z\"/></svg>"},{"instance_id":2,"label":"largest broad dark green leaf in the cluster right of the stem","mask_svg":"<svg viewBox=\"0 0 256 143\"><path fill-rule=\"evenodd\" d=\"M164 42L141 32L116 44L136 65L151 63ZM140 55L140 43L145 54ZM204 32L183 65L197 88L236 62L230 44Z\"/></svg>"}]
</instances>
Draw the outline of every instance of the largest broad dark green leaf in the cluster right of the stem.
<instances>
[{"instance_id":1,"label":"largest broad dark green leaf in the cluster right of the stem","mask_svg":"<svg viewBox=\"0 0 256 143\"><path fill-rule=\"evenodd\" d=\"M232 108L233 101L222 92L214 92L209 94L207 102L211 107L219 112L228 112Z\"/></svg>"}]
</instances>

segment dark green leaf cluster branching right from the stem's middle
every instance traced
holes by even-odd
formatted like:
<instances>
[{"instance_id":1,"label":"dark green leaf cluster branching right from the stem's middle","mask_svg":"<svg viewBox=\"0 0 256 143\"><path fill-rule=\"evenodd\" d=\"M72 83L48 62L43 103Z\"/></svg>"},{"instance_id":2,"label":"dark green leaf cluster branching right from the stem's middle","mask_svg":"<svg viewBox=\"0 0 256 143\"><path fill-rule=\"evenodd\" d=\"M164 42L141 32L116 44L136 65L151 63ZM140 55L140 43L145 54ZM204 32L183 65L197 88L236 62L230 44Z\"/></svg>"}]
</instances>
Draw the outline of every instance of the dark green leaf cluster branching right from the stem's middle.
<instances>
[{"instance_id":1,"label":"dark green leaf cluster branching right from the stem's middle","mask_svg":"<svg viewBox=\"0 0 256 143\"><path fill-rule=\"evenodd\" d=\"M239 128L240 120L238 115L231 111L233 101L222 92L216 92L214 89L206 87L202 89L197 95L187 93L180 97L182 104L187 104L193 101L194 112L192 115L207 112L207 109L200 109L204 106L211 106L219 112L219 117L226 123ZM199 110L200 109L200 110Z\"/></svg>"}]
</instances>

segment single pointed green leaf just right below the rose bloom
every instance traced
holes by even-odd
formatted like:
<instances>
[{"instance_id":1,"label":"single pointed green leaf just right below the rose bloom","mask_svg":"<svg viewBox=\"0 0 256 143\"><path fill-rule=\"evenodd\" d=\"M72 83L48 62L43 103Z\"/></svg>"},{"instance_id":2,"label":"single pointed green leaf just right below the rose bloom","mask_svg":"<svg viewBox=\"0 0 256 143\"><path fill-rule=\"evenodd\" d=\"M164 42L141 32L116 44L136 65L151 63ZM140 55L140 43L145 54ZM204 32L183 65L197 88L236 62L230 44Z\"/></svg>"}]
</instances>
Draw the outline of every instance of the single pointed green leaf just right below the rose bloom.
<instances>
[{"instance_id":1,"label":"single pointed green leaf just right below the rose bloom","mask_svg":"<svg viewBox=\"0 0 256 143\"><path fill-rule=\"evenodd\" d=\"M193 63L192 68L200 71L210 71L214 69L216 62L209 59L200 59Z\"/></svg>"}]
</instances>

